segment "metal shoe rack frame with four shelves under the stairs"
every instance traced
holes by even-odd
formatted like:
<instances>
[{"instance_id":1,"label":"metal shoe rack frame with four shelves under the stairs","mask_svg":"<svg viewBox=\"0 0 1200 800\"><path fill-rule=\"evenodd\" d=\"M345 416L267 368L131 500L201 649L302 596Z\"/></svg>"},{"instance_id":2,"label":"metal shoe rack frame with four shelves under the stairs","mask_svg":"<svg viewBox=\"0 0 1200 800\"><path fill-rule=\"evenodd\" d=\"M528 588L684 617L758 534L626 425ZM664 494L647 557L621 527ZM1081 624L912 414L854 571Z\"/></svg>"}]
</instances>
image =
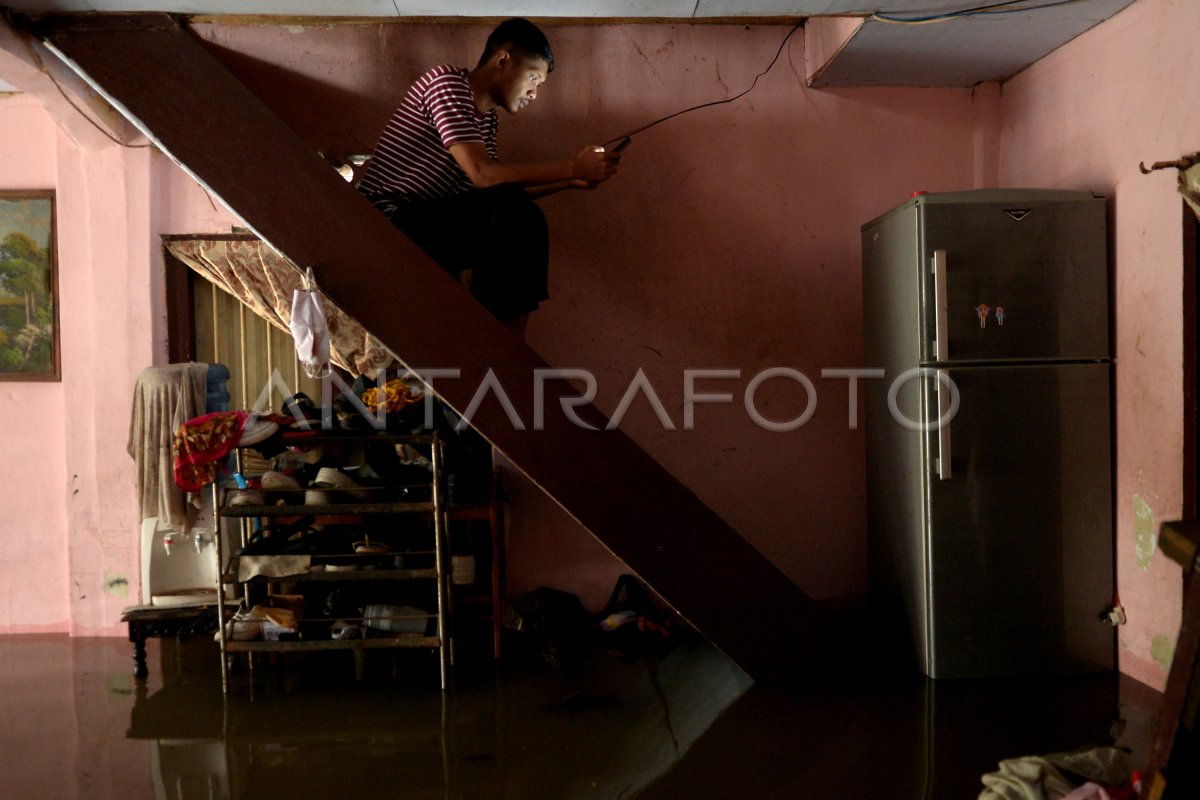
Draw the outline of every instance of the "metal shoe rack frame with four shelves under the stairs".
<instances>
[{"instance_id":1,"label":"metal shoe rack frame with four shelves under the stairs","mask_svg":"<svg viewBox=\"0 0 1200 800\"><path fill-rule=\"evenodd\" d=\"M438 664L439 664L439 676L443 691L450 687L451 682L451 667L454 661L454 640L450 626L450 608L451 608L451 581L449 576L449 546L448 546L448 531L446 531L446 515L445 515L445 500L444 500L444 480L443 480L443 452L442 441L438 439L437 434L428 435L401 435L390 434L385 432L371 432L371 433L347 433L347 432L304 432L302 435L294 435L292 433L282 433L283 444L296 444L296 445L322 445L322 444L354 444L360 443L366 445L367 443L388 443L390 445L410 445L414 447L427 449L431 453L430 461L432 463L432 473L428 488L430 500L421 501L380 501L380 503L364 503L364 501L350 501L350 503L337 503L328 505L313 505L313 504L294 504L294 503L282 503L282 504L270 504L271 493L264 492L268 505L232 505L229 500L232 499L234 492L229 487L221 487L220 481L214 482L212 494L214 494L214 507L218 509L218 515L222 519L238 521L239 524L239 537L241 541L241 547L245 547L251 539L253 530L253 521L258 521L259 524L270 524L270 521L282 522L288 519L298 519L305 516L312 516L320 523L328 521L330 524L344 524L348 519L358 519L366 516L383 515L389 518L395 518L395 524L397 530L407 523L412 523L414 518L424 517L426 523L425 528L428 529L430 525L427 521L432 519L432 539L433 541L425 547L432 546L432 549L407 549L402 553L391 553L390 555L400 555L404 559L410 557L424 557L424 563L419 567L409 567L407 564L400 566L380 566L380 555L377 553L360 554L360 553L319 553L314 554L312 558L313 563L322 563L325 569L307 569L306 571L298 572L294 575L276 575L272 577L266 577L264 575L257 575L250 577L248 579L241 579L239 577L239 555L234 553L226 553L228 549L226 547L226 535L217 535L215 545L217 548L217 564L221 565L218 576L217 591L220 596L227 596L227 593L233 589L242 600L242 608L248 609L252 607L253 601L258 597L264 597L266 595L276 593L281 585L292 585L293 588L300 587L301 584L322 583L326 585L335 584L359 584L359 582L372 582L372 583L386 583L386 582L433 582L436 584L436 597L437 597L437 613L432 616L436 618L436 630L432 634L426 631L425 633L388 633L380 634L374 638L366 638L366 620L364 619L350 619L341 618L343 621L358 622L362 630L364 638L348 638L348 639L335 639L335 638L292 638L288 640L239 640L232 638L233 620L228 609L223 603L217 603L218 610L218 642L221 644L221 687L224 693L229 692L229 672L233 658L236 654L247 654L247 661L253 664L253 656L262 652L305 652L305 651L328 651L328 650L348 650L354 655L355 673L359 679L362 676L362 662L367 650L397 650L397 649L412 649L412 648L433 648L438 651ZM289 439L294 441L289 443ZM236 453L238 468L242 467L242 452L241 449ZM400 487L385 487L385 488L400 488ZM324 491L324 489L323 489ZM331 492L336 494L336 492ZM236 552L236 551L235 551ZM271 555L259 557L259 558L272 558ZM286 558L283 555L280 557ZM262 561L259 561L262 564ZM330 564L336 564L338 569L336 571L328 569ZM361 585L361 584L359 584ZM331 620L330 620L331 621Z\"/></svg>"}]
</instances>

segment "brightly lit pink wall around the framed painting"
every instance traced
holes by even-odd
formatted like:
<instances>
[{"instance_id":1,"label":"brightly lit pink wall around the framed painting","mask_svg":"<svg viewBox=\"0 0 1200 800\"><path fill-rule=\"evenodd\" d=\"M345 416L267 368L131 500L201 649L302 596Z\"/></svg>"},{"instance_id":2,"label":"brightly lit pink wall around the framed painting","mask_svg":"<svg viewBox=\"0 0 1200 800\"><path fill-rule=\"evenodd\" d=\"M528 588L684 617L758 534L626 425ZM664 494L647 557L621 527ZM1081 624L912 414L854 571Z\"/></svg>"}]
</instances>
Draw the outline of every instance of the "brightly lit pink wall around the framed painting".
<instances>
[{"instance_id":1,"label":"brightly lit pink wall around the framed painting","mask_svg":"<svg viewBox=\"0 0 1200 800\"><path fill-rule=\"evenodd\" d=\"M35 97L0 100L0 190L56 192L62 380L0 384L0 633L124 634L139 596L130 398L166 355L158 234L233 217L157 151L80 145L79 120Z\"/></svg>"}]
</instances>

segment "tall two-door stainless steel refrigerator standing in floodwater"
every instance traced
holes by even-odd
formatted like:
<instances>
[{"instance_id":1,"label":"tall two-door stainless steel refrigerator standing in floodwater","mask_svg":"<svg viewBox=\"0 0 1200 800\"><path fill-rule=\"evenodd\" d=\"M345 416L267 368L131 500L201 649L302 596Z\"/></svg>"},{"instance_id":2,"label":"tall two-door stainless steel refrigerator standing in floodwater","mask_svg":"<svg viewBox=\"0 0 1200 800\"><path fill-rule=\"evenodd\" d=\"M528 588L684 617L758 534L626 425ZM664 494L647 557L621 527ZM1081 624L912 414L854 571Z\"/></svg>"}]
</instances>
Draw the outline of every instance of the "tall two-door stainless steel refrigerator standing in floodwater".
<instances>
[{"instance_id":1,"label":"tall two-door stainless steel refrigerator standing in floodwater","mask_svg":"<svg viewBox=\"0 0 1200 800\"><path fill-rule=\"evenodd\" d=\"M1114 667L1105 218L982 190L862 228L871 593L931 678Z\"/></svg>"}]
</instances>

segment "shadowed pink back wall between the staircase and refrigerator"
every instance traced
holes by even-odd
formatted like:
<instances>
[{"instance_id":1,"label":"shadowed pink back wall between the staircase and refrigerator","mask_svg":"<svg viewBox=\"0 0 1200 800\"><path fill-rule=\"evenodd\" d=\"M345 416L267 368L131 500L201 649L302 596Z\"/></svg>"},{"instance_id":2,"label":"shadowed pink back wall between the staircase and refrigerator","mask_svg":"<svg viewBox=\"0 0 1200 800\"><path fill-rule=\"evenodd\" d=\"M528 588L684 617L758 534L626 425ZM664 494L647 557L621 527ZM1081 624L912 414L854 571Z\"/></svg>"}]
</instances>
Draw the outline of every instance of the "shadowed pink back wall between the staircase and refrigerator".
<instances>
[{"instance_id":1,"label":"shadowed pink back wall between the staircase and refrigerator","mask_svg":"<svg viewBox=\"0 0 1200 800\"><path fill-rule=\"evenodd\" d=\"M480 25L202 25L222 60L326 154L370 151L427 66L473 66ZM750 85L787 26L602 25L548 29L557 67L539 100L500 124L510 158L562 157L683 107ZM305 98L300 102L299 98ZM746 98L635 138L622 173L592 193L548 198L552 300L528 341L547 361L592 371L612 410L638 368L676 431L644 398L623 427L800 587L865 590L864 453L845 380L862 363L858 227L918 188L972 186L968 90L809 91L803 32ZM446 365L452 366L452 365ZM770 367L817 386L790 433L742 405ZM701 383L733 403L700 407L683 431L683 371L740 369ZM803 410L785 379L758 392L768 416ZM604 601L623 569L538 489L517 499L510 591L554 585ZM636 515L637 509L630 509Z\"/></svg>"}]
</instances>

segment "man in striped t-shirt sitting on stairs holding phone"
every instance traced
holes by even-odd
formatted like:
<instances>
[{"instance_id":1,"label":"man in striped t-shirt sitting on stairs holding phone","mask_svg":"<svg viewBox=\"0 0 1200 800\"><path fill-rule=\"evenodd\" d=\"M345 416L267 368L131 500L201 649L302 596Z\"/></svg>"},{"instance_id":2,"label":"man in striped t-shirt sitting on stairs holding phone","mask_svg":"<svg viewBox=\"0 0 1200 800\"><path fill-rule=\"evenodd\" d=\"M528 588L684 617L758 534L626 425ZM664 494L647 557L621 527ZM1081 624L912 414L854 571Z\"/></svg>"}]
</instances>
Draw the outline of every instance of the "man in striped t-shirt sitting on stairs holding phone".
<instances>
[{"instance_id":1,"label":"man in striped t-shirt sitting on stairs holding phone","mask_svg":"<svg viewBox=\"0 0 1200 800\"><path fill-rule=\"evenodd\" d=\"M470 293L518 332L548 296L548 233L534 199L593 188L620 161L594 145L563 161L498 160L497 109L516 114L532 103L553 70L550 42L536 25L500 23L474 70L442 65L416 79L359 184L443 269L472 270Z\"/></svg>"}]
</instances>

